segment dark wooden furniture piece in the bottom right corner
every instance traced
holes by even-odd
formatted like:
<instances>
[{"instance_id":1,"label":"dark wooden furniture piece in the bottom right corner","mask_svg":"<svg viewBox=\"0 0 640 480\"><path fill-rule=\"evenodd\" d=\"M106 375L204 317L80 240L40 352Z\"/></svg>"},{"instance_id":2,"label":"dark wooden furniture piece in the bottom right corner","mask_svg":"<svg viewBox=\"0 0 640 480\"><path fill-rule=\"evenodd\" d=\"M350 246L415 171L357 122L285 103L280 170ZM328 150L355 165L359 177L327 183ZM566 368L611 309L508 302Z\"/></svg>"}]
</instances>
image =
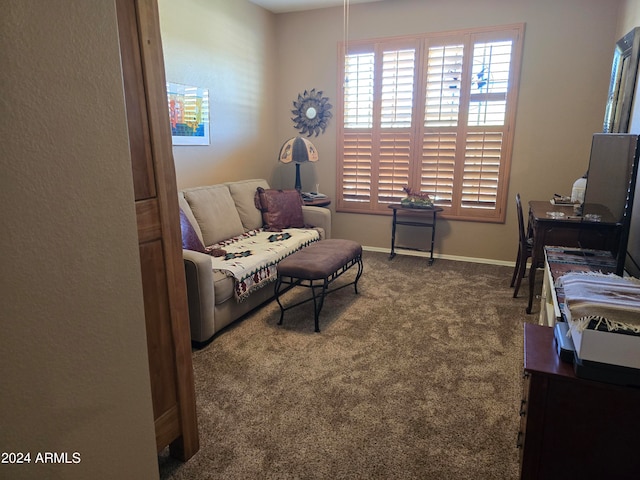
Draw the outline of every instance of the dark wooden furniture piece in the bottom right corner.
<instances>
[{"instance_id":1,"label":"dark wooden furniture piece in the bottom right corner","mask_svg":"<svg viewBox=\"0 0 640 480\"><path fill-rule=\"evenodd\" d=\"M640 389L576 377L553 328L524 325L521 479L636 479Z\"/></svg>"}]
</instances>

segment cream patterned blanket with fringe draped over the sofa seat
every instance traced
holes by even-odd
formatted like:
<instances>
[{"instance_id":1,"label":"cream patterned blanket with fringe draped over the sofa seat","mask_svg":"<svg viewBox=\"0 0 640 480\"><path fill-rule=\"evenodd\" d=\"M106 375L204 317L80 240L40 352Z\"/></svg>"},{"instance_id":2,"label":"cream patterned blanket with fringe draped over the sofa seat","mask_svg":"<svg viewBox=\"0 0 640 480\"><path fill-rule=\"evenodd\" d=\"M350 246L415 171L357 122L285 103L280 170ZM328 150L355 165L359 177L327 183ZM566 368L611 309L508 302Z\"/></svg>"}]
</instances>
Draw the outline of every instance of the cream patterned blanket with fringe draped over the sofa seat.
<instances>
[{"instance_id":1,"label":"cream patterned blanket with fringe draped over the sofa seat","mask_svg":"<svg viewBox=\"0 0 640 480\"><path fill-rule=\"evenodd\" d=\"M287 228L281 232L251 230L238 237L210 245L211 266L235 279L236 300L277 278L277 264L283 258L320 240L317 230Z\"/></svg>"}]
</instances>

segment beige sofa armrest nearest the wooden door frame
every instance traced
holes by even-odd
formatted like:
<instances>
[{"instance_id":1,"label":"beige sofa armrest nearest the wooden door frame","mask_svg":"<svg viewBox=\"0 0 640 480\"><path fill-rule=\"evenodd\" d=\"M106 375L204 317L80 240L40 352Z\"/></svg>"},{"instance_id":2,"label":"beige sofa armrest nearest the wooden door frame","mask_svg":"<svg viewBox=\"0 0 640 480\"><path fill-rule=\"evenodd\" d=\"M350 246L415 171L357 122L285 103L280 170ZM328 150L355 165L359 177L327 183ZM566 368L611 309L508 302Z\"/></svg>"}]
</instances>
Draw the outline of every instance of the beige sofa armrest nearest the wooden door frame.
<instances>
[{"instance_id":1,"label":"beige sofa armrest nearest the wooden door frame","mask_svg":"<svg viewBox=\"0 0 640 480\"><path fill-rule=\"evenodd\" d=\"M214 331L215 292L211 257L193 250L182 250L187 279L187 301L191 340L206 342Z\"/></svg>"}]
</instances>

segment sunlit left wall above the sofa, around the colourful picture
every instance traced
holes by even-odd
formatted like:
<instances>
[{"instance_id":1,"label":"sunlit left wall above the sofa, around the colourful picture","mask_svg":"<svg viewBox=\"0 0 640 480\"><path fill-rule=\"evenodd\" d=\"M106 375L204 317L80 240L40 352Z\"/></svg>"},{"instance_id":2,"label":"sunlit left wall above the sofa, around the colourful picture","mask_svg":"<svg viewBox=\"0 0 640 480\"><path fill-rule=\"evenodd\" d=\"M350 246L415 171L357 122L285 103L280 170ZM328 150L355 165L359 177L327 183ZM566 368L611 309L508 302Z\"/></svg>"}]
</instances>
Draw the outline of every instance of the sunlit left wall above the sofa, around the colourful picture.
<instances>
[{"instance_id":1,"label":"sunlit left wall above the sofa, around the colourful picture","mask_svg":"<svg viewBox=\"0 0 640 480\"><path fill-rule=\"evenodd\" d=\"M274 109L274 15L246 0L159 0L168 82L208 88L209 146L174 146L178 188L270 178L280 140Z\"/></svg>"}]
</instances>

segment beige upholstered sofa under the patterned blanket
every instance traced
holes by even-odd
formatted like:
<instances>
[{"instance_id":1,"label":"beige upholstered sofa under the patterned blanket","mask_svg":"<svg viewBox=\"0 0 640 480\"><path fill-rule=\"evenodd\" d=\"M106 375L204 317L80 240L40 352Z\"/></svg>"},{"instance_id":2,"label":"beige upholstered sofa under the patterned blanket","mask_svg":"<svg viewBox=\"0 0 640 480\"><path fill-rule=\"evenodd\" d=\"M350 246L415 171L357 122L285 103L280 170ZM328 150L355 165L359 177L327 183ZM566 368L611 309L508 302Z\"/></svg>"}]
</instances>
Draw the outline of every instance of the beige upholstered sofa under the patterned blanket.
<instances>
[{"instance_id":1,"label":"beige upholstered sofa under the patterned blanket","mask_svg":"<svg viewBox=\"0 0 640 480\"><path fill-rule=\"evenodd\" d=\"M258 187L269 188L266 180L254 179L184 189L178 202L184 216L205 246L223 242L263 227L262 213L254 197ZM316 227L320 238L331 238L331 212L327 208L302 206L304 223ZM203 343L245 313L271 299L268 283L243 301L235 295L233 277L214 270L211 256L183 250L191 339Z\"/></svg>"}]
</instances>

